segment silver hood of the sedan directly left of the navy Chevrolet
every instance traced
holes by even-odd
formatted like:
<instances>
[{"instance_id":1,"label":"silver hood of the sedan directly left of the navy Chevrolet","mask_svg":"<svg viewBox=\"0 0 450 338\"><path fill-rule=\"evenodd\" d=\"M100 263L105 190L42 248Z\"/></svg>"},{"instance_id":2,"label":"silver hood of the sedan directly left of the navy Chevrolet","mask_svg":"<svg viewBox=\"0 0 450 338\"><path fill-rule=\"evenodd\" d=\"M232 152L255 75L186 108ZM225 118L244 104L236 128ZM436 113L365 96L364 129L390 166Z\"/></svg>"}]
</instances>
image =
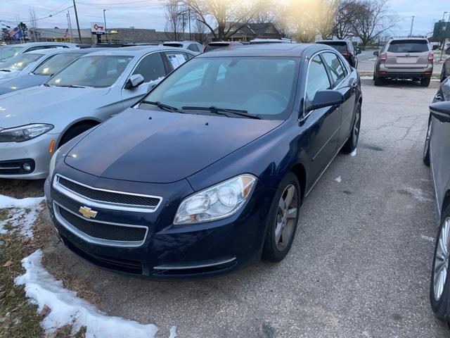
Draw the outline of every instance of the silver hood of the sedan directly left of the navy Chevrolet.
<instances>
[{"instance_id":1,"label":"silver hood of the sedan directly left of the navy Chevrolet","mask_svg":"<svg viewBox=\"0 0 450 338\"><path fill-rule=\"evenodd\" d=\"M108 92L109 88L39 86L4 94L0 96L0 128L52 123L52 115L71 113L85 102L96 103Z\"/></svg>"}]
</instances>

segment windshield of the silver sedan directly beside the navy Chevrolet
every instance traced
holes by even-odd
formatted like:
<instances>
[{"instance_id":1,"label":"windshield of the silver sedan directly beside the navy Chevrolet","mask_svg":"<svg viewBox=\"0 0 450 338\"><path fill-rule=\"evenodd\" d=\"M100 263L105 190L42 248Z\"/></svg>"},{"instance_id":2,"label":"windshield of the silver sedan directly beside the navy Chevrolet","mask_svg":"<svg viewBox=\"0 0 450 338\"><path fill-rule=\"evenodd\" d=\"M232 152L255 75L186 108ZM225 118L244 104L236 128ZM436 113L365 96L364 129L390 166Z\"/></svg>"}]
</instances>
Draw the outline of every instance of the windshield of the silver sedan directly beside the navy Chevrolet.
<instances>
[{"instance_id":1,"label":"windshield of the silver sedan directly beside the navy Chevrolet","mask_svg":"<svg viewBox=\"0 0 450 338\"><path fill-rule=\"evenodd\" d=\"M84 56L46 82L58 87L110 87L133 56Z\"/></svg>"}]
</instances>

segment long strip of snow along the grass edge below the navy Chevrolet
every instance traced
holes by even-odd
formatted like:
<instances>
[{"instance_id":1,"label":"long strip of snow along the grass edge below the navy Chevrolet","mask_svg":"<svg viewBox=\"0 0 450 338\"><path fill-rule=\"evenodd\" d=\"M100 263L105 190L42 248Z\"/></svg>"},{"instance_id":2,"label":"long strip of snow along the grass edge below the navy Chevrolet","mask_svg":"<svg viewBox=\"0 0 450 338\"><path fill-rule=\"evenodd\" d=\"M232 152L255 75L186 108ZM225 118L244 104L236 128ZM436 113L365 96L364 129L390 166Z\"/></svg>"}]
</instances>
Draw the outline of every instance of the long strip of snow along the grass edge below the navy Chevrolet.
<instances>
[{"instance_id":1,"label":"long strip of snow along the grass edge below the navy Chevrolet","mask_svg":"<svg viewBox=\"0 0 450 338\"><path fill-rule=\"evenodd\" d=\"M155 337L158 328L153 324L143 325L131 320L110 317L98 311L94 306L77 297L77 294L64 289L63 282L55 280L41 265L42 252L35 251L23 258L22 265L26 272L15 278L15 283L25 285L28 297L34 299L38 311L44 305L51 311L42 320L44 330L55 330L63 325L70 324L74 332L86 327L86 337L129 337L150 338ZM171 337L176 337L176 329L171 329ZM175 336L173 335L175 334Z\"/></svg>"}]
</instances>

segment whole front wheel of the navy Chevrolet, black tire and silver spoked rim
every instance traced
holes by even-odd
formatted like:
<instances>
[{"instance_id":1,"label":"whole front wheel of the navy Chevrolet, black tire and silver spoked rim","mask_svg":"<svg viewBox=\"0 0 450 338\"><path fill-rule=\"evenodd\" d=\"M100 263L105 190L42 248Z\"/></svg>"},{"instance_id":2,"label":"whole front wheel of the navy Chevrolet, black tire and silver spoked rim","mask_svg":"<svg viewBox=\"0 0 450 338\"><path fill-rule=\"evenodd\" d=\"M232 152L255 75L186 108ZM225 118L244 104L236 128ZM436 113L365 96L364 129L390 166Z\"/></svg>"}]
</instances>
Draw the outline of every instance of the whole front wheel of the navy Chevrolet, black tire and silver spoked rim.
<instances>
[{"instance_id":1,"label":"whole front wheel of the navy Chevrolet, black tire and silver spoked rim","mask_svg":"<svg viewBox=\"0 0 450 338\"><path fill-rule=\"evenodd\" d=\"M262 258L279 262L288 254L297 230L300 205L300 184L293 173L288 173L271 204Z\"/></svg>"}]
</instances>

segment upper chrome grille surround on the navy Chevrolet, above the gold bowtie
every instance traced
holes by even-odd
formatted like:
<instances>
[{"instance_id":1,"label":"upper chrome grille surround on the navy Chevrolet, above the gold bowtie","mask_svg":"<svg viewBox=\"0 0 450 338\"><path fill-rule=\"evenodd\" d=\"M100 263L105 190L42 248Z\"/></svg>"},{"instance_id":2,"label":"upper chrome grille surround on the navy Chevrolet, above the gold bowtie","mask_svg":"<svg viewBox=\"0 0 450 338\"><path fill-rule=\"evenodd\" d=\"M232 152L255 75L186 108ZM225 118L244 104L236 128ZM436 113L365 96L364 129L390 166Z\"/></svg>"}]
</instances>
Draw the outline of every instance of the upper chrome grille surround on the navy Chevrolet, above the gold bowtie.
<instances>
[{"instance_id":1,"label":"upper chrome grille surround on the navy Chevrolet, above the gold bowtie","mask_svg":"<svg viewBox=\"0 0 450 338\"><path fill-rule=\"evenodd\" d=\"M98 201L95 199L89 199L86 196L82 196L80 194L77 194L76 192L73 192L72 190L64 187L62 184L59 183L59 177L62 177L65 180L68 180L70 182L73 182L75 184L79 184L82 185L83 187L86 187L88 189L92 189L92 190L97 190L97 191L101 191L101 192L111 192L114 194L124 194L124 195L131 195L131 196L141 196L141 197L150 197L153 199L159 199L159 203L158 205L154 206L154 207L149 207L149 206L139 206L139 205L135 205L135 204L119 204L119 203L114 203L114 202L105 202L105 201ZM80 204L89 204L90 206L94 206L96 208L103 208L103 209L110 209L110 210L120 210L120 211L131 211L131 212L138 212L138 213L154 213L158 207L161 205L162 203L162 197L161 196L153 196L153 195L146 195L146 194L137 194L134 192L119 192L117 190L110 190L110 189L101 189L101 188L95 188L95 187L91 187L87 184L83 184L80 182L77 182L75 180L71 180L68 177L65 177L63 175L60 174L56 174L55 177L53 178L53 188L58 190L58 192L60 192L61 194L70 197L70 199L73 199L77 202L79 202Z\"/></svg>"}]
</instances>

